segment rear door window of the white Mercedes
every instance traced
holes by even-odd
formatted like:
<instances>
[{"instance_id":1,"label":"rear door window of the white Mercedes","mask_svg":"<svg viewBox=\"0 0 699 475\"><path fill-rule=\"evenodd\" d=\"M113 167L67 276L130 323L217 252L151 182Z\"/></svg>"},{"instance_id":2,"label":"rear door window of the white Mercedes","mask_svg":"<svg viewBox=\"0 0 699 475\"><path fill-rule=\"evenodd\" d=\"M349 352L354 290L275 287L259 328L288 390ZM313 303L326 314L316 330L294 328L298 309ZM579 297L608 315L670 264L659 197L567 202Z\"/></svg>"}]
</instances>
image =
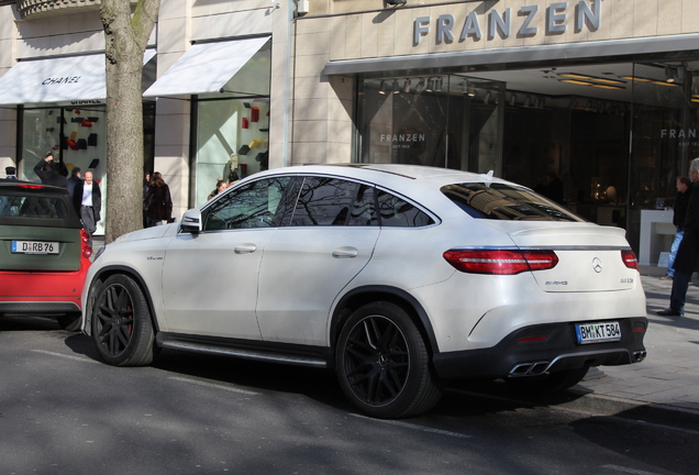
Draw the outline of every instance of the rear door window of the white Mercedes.
<instances>
[{"instance_id":1,"label":"rear door window of the white Mercedes","mask_svg":"<svg viewBox=\"0 0 699 475\"><path fill-rule=\"evenodd\" d=\"M291 225L345 225L355 212L359 184L328 177L307 177L296 203ZM362 212L359 212L359 218Z\"/></svg>"}]
</instances>

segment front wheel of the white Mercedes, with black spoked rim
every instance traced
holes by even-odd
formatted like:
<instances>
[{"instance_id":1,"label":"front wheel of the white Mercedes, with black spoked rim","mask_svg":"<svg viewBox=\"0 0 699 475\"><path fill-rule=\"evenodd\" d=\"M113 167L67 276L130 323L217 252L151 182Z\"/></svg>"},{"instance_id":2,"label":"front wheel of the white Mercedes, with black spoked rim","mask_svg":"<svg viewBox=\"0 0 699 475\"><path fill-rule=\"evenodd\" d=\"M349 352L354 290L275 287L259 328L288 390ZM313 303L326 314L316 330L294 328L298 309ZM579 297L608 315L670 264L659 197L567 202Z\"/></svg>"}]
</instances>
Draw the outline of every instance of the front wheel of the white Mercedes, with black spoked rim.
<instances>
[{"instance_id":1,"label":"front wheel of the white Mercedes, with black spoked rim","mask_svg":"<svg viewBox=\"0 0 699 475\"><path fill-rule=\"evenodd\" d=\"M143 290L129 276L104 280L92 306L92 339L114 366L143 366L154 357L155 332Z\"/></svg>"}]
</instances>

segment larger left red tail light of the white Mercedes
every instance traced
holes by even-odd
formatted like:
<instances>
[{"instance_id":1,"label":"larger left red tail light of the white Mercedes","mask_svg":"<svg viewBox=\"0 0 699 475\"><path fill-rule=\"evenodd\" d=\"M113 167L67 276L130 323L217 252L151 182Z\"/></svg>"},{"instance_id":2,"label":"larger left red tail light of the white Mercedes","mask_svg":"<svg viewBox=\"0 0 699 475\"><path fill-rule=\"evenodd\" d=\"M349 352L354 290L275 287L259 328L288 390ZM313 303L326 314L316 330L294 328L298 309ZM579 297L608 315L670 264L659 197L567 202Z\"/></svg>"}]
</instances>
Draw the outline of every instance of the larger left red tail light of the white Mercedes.
<instances>
[{"instance_id":1,"label":"larger left red tail light of the white Mercedes","mask_svg":"<svg viewBox=\"0 0 699 475\"><path fill-rule=\"evenodd\" d=\"M558 264L553 251L450 250L443 256L454 268L468 274L514 275L552 269Z\"/></svg>"}]
</instances>

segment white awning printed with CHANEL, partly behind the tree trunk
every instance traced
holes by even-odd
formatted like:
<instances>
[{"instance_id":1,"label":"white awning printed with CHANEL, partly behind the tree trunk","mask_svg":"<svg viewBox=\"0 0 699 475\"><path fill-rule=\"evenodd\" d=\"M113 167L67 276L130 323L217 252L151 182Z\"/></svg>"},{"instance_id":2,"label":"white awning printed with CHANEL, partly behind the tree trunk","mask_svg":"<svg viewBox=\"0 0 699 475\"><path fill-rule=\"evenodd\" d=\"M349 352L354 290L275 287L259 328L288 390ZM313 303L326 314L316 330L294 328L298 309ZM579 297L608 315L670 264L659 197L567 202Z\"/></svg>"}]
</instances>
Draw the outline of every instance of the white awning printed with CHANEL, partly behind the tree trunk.
<instances>
[{"instance_id":1,"label":"white awning printed with CHANEL, partly behind the tree trunk","mask_svg":"<svg viewBox=\"0 0 699 475\"><path fill-rule=\"evenodd\" d=\"M155 56L146 49L143 64ZM107 98L104 54L21 60L0 77L0 104Z\"/></svg>"}]
</instances>

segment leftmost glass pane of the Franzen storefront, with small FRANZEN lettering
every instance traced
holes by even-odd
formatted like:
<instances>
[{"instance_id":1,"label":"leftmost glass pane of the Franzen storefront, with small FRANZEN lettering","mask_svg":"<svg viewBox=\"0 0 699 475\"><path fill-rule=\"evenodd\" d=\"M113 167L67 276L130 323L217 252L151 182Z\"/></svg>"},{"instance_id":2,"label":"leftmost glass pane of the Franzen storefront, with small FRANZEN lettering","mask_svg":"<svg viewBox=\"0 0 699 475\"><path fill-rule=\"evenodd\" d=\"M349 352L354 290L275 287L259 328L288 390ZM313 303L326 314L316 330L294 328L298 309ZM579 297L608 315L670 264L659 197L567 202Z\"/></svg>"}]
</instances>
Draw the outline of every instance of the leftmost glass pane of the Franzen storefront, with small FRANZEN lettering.
<instances>
[{"instance_id":1,"label":"leftmost glass pane of the Franzen storefront, with small FRANZEN lettering","mask_svg":"<svg viewBox=\"0 0 699 475\"><path fill-rule=\"evenodd\" d=\"M503 91L462 75L365 78L358 161L498 173Z\"/></svg>"}]
</instances>

